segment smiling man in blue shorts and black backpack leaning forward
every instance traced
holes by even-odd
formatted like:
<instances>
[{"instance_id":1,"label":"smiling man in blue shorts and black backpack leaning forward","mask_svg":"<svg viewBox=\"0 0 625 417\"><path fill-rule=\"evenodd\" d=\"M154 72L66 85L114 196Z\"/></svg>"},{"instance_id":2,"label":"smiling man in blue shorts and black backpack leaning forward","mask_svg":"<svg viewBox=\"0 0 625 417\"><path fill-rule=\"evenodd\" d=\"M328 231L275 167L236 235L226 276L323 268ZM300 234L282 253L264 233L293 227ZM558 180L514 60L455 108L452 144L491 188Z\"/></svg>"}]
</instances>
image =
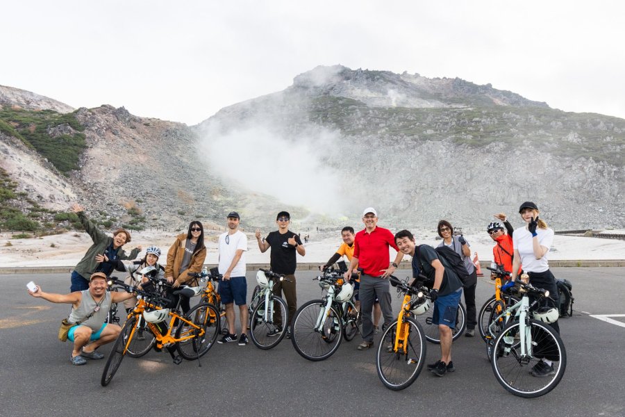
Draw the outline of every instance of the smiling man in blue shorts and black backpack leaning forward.
<instances>
[{"instance_id":1,"label":"smiling man in blue shorts and black backpack leaning forward","mask_svg":"<svg viewBox=\"0 0 625 417\"><path fill-rule=\"evenodd\" d=\"M438 377L456 370L451 361L451 330L456 327L456 313L462 281L451 268L445 268L433 247L415 243L410 231L402 230L395 234L395 243L404 254L412 256L412 277L419 279L425 275L433 281L430 298L434 302L432 323L438 325L440 334L440 360L428 365L428 369ZM414 282L414 280L413 280Z\"/></svg>"}]
</instances>

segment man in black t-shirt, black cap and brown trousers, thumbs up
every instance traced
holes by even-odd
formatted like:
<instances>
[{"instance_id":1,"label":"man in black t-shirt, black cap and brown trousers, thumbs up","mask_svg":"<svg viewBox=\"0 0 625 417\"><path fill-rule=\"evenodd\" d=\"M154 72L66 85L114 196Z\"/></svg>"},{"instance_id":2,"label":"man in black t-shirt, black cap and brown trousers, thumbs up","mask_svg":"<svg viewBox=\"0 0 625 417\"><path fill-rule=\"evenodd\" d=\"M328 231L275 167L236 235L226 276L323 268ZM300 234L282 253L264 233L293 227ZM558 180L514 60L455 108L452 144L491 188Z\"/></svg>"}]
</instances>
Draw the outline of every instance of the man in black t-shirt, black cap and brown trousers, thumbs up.
<instances>
[{"instance_id":1,"label":"man in black t-shirt, black cap and brown trousers, thumbs up","mask_svg":"<svg viewBox=\"0 0 625 417\"><path fill-rule=\"evenodd\" d=\"M274 295L282 297L282 293L284 292L284 297L289 307L289 327L295 315L295 311L297 311L297 293L295 291L295 268L297 268L296 252L301 256L306 255L306 249L304 249L301 244L299 236L289 230L290 221L291 215L286 211L281 211L276 216L276 224L278 224L277 231L272 231L264 240L261 240L260 230L256 230L256 240L258 240L260 252L265 253L269 247L272 248L269 261L272 272L284 274L290 279L290 281L286 279L284 281L278 281L274 285ZM268 334L268 336L278 336L278 334L282 332L282 323L280 320L279 315L274 316L274 322L277 327L274 329L274 332L269 332L270 334ZM290 337L289 329L287 331L287 338Z\"/></svg>"}]
</instances>

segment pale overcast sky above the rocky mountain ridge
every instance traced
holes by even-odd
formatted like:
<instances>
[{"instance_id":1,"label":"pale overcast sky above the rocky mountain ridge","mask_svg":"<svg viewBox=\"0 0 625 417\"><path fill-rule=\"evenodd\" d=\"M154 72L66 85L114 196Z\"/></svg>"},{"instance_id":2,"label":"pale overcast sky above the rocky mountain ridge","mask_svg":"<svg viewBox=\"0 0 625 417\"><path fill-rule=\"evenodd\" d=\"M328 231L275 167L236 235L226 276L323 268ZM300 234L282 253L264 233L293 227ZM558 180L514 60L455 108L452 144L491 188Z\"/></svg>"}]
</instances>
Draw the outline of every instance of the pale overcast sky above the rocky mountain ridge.
<instances>
[{"instance_id":1,"label":"pale overcast sky above the rocky mountain ridge","mask_svg":"<svg viewBox=\"0 0 625 417\"><path fill-rule=\"evenodd\" d=\"M623 1L31 1L0 84L197 124L317 65L460 77L625 118Z\"/></svg>"}]
</instances>

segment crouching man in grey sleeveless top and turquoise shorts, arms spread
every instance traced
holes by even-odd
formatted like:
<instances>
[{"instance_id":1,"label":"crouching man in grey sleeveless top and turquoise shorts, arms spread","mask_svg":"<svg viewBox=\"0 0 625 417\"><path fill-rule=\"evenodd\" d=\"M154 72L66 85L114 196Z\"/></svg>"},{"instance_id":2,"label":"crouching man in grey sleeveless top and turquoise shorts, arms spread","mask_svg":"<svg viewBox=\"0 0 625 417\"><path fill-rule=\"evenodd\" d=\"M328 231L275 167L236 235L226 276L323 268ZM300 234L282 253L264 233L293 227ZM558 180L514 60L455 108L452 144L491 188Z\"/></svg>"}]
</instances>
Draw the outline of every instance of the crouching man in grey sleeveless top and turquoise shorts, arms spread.
<instances>
[{"instance_id":1,"label":"crouching man in grey sleeveless top and turquoise shorts, arms spread","mask_svg":"<svg viewBox=\"0 0 625 417\"><path fill-rule=\"evenodd\" d=\"M74 365L84 365L86 359L102 359L103 354L95 352L97 347L115 341L122 327L105 323L111 302L123 302L133 297L131 293L106 291L106 275L96 272L89 279L89 289L69 294L44 293L40 286L35 292L28 290L33 297L49 302L72 304L72 312L67 321L79 323L69 329L67 338L74 342L72 357Z\"/></svg>"}]
</instances>

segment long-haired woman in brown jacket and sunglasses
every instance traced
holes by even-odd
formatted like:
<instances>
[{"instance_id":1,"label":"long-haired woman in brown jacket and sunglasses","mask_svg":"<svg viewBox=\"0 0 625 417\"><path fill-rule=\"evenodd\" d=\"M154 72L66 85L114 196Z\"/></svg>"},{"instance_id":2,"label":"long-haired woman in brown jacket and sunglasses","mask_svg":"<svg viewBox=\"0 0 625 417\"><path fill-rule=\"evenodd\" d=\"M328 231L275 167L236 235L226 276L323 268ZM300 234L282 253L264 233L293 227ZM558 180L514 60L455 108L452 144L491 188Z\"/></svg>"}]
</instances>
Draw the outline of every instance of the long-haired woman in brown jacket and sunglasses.
<instances>
[{"instance_id":1,"label":"long-haired woman in brown jacket and sunglasses","mask_svg":"<svg viewBox=\"0 0 625 417\"><path fill-rule=\"evenodd\" d=\"M175 288L183 284L191 284L195 280L189 277L189 272L201 272L206 259L206 246L204 246L204 228L201 222L193 221L189 224L186 234L179 234L174 245L167 252L167 265L165 265L165 277L172 284L173 293ZM178 304L178 295L170 294L174 306ZM183 312L190 310L188 298L181 302Z\"/></svg>"}]
</instances>

